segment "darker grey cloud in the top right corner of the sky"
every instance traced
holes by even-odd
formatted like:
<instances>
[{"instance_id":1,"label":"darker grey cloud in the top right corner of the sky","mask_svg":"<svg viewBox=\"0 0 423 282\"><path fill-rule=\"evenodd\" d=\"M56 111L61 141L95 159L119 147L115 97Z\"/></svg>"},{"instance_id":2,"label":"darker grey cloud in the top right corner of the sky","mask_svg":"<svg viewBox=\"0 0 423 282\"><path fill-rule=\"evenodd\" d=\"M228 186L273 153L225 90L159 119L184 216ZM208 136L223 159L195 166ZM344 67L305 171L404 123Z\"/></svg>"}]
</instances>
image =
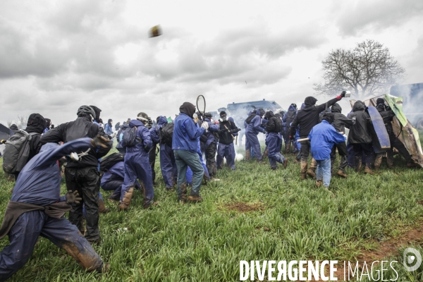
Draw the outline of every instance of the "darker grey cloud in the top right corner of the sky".
<instances>
[{"instance_id":1,"label":"darker grey cloud in the top right corner of the sky","mask_svg":"<svg viewBox=\"0 0 423 282\"><path fill-rule=\"evenodd\" d=\"M423 1L377 0L338 1L333 13L338 13L338 26L343 35L356 35L365 28L381 30L422 17Z\"/></svg>"}]
</instances>

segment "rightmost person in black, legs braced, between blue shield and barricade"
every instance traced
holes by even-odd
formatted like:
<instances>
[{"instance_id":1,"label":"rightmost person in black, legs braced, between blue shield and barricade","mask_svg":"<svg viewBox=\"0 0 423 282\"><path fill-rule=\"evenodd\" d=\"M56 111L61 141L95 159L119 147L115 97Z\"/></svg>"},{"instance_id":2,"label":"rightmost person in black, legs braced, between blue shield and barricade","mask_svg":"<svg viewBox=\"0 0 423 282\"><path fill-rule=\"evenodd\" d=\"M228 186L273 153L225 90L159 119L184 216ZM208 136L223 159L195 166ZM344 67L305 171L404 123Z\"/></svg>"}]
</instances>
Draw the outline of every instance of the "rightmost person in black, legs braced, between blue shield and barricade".
<instances>
[{"instance_id":1,"label":"rightmost person in black, legs braced, between blue shield and barricade","mask_svg":"<svg viewBox=\"0 0 423 282\"><path fill-rule=\"evenodd\" d=\"M384 119L386 131L388 132L389 141L391 142L391 149L387 151L387 158L386 162L388 164L388 168L393 168L393 148L396 148L401 156L404 157L405 161L407 161L407 166L412 167L415 166L414 161L411 158L410 153L405 148L403 142L401 142L398 137L393 132L392 128L392 121L395 113L391 110L390 106L386 106L385 99L378 98L376 100L376 109L381 114L381 117ZM374 168L379 170L382 164L382 157L384 156L384 152L376 154L376 158L374 159Z\"/></svg>"}]
</instances>

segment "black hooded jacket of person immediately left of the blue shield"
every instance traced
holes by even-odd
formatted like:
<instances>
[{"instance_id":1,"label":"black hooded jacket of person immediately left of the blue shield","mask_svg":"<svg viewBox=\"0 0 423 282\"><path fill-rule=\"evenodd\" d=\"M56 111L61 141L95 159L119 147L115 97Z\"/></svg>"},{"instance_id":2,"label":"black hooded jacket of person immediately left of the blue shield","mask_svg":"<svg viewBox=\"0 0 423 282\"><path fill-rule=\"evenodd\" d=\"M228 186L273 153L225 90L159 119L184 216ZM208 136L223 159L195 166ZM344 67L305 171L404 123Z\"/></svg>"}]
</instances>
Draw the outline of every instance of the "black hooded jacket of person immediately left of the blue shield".
<instances>
[{"instance_id":1,"label":"black hooded jacket of person immediately left of the blue shield","mask_svg":"<svg viewBox=\"0 0 423 282\"><path fill-rule=\"evenodd\" d=\"M348 143L357 144L372 143L372 136L370 135L369 125L372 123L369 114L366 111L366 105L360 100L355 102L353 106L353 113L349 114L350 118L356 118L355 125L350 126L350 133L348 133Z\"/></svg>"}]
</instances>

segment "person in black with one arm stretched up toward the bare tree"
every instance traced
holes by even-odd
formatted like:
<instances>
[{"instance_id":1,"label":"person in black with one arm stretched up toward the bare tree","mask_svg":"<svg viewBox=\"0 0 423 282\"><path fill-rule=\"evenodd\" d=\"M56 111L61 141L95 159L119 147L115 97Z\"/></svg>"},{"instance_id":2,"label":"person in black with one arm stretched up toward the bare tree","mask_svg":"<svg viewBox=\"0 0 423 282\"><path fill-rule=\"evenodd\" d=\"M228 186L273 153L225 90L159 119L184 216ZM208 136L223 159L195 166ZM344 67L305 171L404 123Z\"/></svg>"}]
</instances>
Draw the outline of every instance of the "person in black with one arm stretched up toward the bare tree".
<instances>
[{"instance_id":1,"label":"person in black with one arm stretched up toward the bare tree","mask_svg":"<svg viewBox=\"0 0 423 282\"><path fill-rule=\"evenodd\" d=\"M336 102L342 99L345 96L345 91L341 93L336 98L329 100L328 102L316 106L317 99L314 97L307 97L304 100L305 107L301 111L298 111L297 116L295 116L294 121L290 125L290 139L292 140L295 137L295 130L297 126L300 125L300 138L306 138L314 125L317 125L319 122L319 115L322 111L327 109L329 106L332 106ZM301 179L305 179L308 176L315 178L317 163L315 159L312 159L312 163L307 170L307 159L310 153L310 142L302 141L301 142Z\"/></svg>"}]
</instances>

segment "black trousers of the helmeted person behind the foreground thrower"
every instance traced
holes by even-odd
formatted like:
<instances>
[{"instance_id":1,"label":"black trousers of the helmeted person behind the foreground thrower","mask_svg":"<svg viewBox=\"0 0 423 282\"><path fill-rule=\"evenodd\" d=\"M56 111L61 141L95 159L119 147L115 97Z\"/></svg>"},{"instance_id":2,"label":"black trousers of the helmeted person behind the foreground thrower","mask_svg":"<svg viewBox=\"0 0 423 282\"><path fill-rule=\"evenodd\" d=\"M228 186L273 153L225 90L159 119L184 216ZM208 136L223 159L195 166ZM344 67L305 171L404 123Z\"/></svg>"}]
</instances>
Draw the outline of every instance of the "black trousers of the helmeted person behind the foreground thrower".
<instances>
[{"instance_id":1,"label":"black trousers of the helmeted person behind the foreground thrower","mask_svg":"<svg viewBox=\"0 0 423 282\"><path fill-rule=\"evenodd\" d=\"M99 233L99 192L100 181L97 166L88 166L85 168L66 168L65 169L66 187L71 191L78 191L82 201L79 204L73 204L69 212L69 221L78 227L81 233L84 233L82 226L82 204L85 204L87 212L86 224L87 232L85 238L89 241L98 240Z\"/></svg>"}]
</instances>

